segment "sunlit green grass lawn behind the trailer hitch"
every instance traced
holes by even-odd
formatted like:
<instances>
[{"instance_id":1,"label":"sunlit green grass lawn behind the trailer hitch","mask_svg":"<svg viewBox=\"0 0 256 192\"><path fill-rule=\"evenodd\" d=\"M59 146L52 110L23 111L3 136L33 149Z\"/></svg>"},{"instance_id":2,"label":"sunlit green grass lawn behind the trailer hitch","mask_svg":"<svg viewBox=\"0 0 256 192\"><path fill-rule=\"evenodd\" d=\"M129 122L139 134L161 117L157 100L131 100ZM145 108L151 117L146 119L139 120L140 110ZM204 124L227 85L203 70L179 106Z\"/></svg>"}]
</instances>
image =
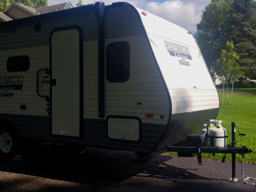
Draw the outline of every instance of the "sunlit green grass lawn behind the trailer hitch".
<instances>
[{"instance_id":1,"label":"sunlit green grass lawn behind the trailer hitch","mask_svg":"<svg viewBox=\"0 0 256 192\"><path fill-rule=\"evenodd\" d=\"M222 100L222 93L219 93ZM224 94L224 100L226 93ZM230 95L229 98L230 99ZM229 103L229 102L228 102ZM232 96L230 105L220 105L220 111L217 119L222 120L222 126L227 129L227 144L231 142L231 122L239 125L240 133L246 133L246 136L239 136L236 130L236 140L238 146L246 146L253 149L252 154L245 154L244 162L256 164L256 95L236 94ZM224 154L203 154L203 157L221 160ZM227 154L226 160L231 161L231 154ZM241 156L236 155L236 161L241 162Z\"/></svg>"}]
</instances>

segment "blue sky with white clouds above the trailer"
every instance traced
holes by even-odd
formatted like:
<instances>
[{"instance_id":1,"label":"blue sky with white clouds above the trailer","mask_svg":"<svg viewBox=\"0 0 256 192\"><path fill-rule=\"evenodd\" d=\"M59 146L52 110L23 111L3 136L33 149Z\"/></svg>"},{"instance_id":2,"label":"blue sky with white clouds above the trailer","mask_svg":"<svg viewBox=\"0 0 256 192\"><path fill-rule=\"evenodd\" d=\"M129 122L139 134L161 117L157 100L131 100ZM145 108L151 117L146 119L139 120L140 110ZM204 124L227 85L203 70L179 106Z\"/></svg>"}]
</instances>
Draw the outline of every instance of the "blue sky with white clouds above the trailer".
<instances>
[{"instance_id":1,"label":"blue sky with white clouds above the trailer","mask_svg":"<svg viewBox=\"0 0 256 192\"><path fill-rule=\"evenodd\" d=\"M107 5L122 0L101 1ZM71 2L73 6L76 6L78 0L48 0L48 5L66 2ZM201 20L201 14L205 6L211 0L126 0L125 2L187 28L194 33L196 32L196 24ZM95 3L95 0L83 0L83 4L90 3Z\"/></svg>"}]
</instances>

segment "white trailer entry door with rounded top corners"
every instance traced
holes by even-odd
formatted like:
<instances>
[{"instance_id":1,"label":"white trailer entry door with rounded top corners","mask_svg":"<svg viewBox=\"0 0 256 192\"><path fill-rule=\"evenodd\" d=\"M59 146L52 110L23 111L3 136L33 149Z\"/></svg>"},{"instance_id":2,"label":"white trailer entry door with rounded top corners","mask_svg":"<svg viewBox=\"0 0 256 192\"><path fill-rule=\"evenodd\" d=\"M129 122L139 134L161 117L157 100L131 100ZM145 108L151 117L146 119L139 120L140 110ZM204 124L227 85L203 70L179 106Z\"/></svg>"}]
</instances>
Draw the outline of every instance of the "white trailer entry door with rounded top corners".
<instances>
[{"instance_id":1,"label":"white trailer entry door with rounded top corners","mask_svg":"<svg viewBox=\"0 0 256 192\"><path fill-rule=\"evenodd\" d=\"M83 63L80 28L57 28L50 38L51 129L80 137L83 120Z\"/></svg>"}]
</instances>

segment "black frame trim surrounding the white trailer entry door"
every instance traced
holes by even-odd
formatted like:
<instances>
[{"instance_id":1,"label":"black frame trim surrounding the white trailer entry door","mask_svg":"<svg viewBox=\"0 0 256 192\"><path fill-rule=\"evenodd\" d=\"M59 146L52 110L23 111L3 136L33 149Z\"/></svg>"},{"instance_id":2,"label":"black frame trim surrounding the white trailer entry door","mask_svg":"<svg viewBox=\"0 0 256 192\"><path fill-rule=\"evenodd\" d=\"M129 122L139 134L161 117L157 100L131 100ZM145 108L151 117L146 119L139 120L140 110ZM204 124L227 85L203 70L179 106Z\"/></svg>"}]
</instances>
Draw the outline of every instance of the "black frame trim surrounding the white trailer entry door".
<instances>
[{"instance_id":1,"label":"black frame trim surrounding the white trailer entry door","mask_svg":"<svg viewBox=\"0 0 256 192\"><path fill-rule=\"evenodd\" d=\"M79 33L79 137L52 134L52 34L57 31L76 29ZM50 41L50 136L64 138L84 138L84 60L83 60L83 30L78 25L54 28L49 36Z\"/></svg>"}]
</instances>

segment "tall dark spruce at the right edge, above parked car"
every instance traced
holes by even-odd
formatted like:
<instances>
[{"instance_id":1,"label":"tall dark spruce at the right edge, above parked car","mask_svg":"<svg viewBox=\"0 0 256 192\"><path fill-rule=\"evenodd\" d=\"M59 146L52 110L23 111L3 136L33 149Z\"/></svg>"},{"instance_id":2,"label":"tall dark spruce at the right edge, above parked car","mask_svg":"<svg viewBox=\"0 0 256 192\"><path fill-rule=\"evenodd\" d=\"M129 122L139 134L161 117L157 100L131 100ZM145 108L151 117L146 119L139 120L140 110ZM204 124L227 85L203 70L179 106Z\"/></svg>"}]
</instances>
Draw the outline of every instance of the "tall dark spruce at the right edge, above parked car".
<instances>
[{"instance_id":1,"label":"tall dark spruce at the right edge, above parked car","mask_svg":"<svg viewBox=\"0 0 256 192\"><path fill-rule=\"evenodd\" d=\"M252 77L256 75L256 2L234 0L230 12L229 36L245 75Z\"/></svg>"}]
</instances>

